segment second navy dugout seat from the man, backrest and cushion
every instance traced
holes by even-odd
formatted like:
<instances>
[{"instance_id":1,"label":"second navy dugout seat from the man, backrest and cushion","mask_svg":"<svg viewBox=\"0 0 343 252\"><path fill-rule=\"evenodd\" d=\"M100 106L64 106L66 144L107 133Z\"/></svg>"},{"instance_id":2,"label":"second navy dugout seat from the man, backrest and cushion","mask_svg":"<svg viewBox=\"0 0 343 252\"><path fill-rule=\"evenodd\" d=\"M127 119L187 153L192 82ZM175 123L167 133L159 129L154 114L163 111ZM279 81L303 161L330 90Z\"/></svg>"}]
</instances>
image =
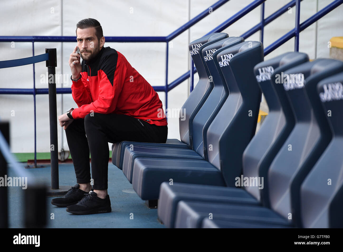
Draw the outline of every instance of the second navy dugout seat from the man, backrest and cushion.
<instances>
[{"instance_id":1,"label":"second navy dugout seat from the man, backrest and cushion","mask_svg":"<svg viewBox=\"0 0 343 252\"><path fill-rule=\"evenodd\" d=\"M203 143L203 139L206 136L206 125L209 125L215 115L224 104L226 98L228 97L228 88L225 80L222 79L217 66L215 64L216 60L213 57L217 53L224 50L223 48L229 48L234 45L241 43L243 38L240 37L228 37L206 47L200 47L203 62L205 67L208 69L209 85L208 95L204 95L198 107L194 110L191 117L189 118L190 123L190 142L192 150L185 150L179 148L170 147L151 147L145 145L134 145L125 146L125 152L123 156L122 170L124 175L128 178L130 183L132 183L132 173L133 173L133 161L137 157L154 157L154 158L192 158L203 160L203 147L200 145ZM238 52L238 51L237 51ZM234 52L236 53L236 52ZM232 53L230 55L233 55ZM218 63L218 62L217 62ZM234 79L231 72L229 80ZM196 112L198 111L198 112ZM194 115L194 116L193 116Z\"/></svg>"}]
</instances>

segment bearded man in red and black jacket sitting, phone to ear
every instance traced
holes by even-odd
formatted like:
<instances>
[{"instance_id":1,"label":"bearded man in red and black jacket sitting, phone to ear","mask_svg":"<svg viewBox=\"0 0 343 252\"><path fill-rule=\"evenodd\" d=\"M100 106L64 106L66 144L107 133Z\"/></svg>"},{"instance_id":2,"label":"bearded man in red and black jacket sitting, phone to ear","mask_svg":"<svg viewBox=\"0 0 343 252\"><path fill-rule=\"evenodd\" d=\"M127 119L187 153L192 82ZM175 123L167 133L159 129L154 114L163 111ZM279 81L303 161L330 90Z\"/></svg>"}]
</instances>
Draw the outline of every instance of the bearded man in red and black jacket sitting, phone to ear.
<instances>
[{"instance_id":1,"label":"bearded man in red and black jacket sitting, phone to ear","mask_svg":"<svg viewBox=\"0 0 343 252\"><path fill-rule=\"evenodd\" d=\"M69 109L58 120L66 131L77 184L51 204L67 206L67 212L73 214L108 213L108 142L165 143L167 120L153 87L120 52L104 47L97 20L76 24L76 37L78 46L69 65L72 97L78 108ZM81 56L76 53L78 48Z\"/></svg>"}]
</instances>

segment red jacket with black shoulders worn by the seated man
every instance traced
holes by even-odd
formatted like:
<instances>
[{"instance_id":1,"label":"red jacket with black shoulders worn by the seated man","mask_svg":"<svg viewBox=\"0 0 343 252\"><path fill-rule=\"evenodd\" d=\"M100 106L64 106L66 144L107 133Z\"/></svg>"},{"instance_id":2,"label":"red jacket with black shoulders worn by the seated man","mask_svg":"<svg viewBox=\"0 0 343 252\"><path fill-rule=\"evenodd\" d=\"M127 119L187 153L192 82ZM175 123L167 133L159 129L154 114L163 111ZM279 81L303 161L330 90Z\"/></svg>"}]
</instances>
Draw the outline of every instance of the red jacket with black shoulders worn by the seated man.
<instances>
[{"instance_id":1,"label":"red jacket with black shoulders worn by the seated man","mask_svg":"<svg viewBox=\"0 0 343 252\"><path fill-rule=\"evenodd\" d=\"M74 119L91 112L123 114L158 126L167 125L162 102L153 87L118 51L103 47L91 62L81 62L82 78L71 86Z\"/></svg>"}]
</instances>

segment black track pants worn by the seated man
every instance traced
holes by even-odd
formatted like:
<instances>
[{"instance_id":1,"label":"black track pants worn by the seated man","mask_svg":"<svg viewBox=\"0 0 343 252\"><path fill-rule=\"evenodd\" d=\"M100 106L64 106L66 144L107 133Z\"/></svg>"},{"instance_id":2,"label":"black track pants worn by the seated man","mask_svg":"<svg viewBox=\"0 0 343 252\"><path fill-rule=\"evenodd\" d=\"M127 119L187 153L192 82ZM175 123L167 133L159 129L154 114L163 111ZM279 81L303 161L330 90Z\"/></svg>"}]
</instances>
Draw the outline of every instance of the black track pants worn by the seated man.
<instances>
[{"instance_id":1,"label":"black track pants worn by the seated man","mask_svg":"<svg viewBox=\"0 0 343 252\"><path fill-rule=\"evenodd\" d=\"M90 182L91 154L93 190L107 189L108 143L165 143L167 134L167 126L157 126L127 115L93 113L93 116L88 114L84 119L75 119L67 127L66 136L76 182Z\"/></svg>"}]
</instances>

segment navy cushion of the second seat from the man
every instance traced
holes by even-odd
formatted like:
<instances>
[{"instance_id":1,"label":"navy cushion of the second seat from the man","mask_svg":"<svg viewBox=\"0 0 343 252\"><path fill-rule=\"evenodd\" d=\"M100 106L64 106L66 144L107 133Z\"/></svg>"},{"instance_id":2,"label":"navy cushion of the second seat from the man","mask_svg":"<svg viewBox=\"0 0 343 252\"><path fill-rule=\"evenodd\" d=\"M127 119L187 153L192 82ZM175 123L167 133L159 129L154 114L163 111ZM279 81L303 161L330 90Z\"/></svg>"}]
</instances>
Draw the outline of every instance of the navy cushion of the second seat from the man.
<instances>
[{"instance_id":1,"label":"navy cushion of the second seat from the man","mask_svg":"<svg viewBox=\"0 0 343 252\"><path fill-rule=\"evenodd\" d=\"M154 158L176 158L176 159L197 159L203 158L191 149L169 148L148 145L126 145L123 155L122 170L127 179L132 183L133 162L137 157L154 157Z\"/></svg>"}]
</instances>

